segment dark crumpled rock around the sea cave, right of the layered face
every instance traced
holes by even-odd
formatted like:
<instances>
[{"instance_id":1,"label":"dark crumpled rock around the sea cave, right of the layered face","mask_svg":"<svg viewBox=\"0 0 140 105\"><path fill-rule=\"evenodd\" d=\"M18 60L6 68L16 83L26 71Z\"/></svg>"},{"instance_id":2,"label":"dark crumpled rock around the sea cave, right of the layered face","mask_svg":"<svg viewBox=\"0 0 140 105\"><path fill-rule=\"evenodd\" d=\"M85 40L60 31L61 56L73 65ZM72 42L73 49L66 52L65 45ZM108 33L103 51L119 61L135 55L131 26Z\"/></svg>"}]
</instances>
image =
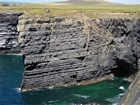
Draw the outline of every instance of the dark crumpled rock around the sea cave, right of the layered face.
<instances>
[{"instance_id":1,"label":"dark crumpled rock around the sea cave, right of the layered face","mask_svg":"<svg viewBox=\"0 0 140 105\"><path fill-rule=\"evenodd\" d=\"M112 61L115 61L120 69L114 70L114 73L121 75L126 72L126 75L130 76L138 70L140 19L107 19L101 20L100 23L113 35ZM122 69L126 71L123 72Z\"/></svg>"}]
</instances>

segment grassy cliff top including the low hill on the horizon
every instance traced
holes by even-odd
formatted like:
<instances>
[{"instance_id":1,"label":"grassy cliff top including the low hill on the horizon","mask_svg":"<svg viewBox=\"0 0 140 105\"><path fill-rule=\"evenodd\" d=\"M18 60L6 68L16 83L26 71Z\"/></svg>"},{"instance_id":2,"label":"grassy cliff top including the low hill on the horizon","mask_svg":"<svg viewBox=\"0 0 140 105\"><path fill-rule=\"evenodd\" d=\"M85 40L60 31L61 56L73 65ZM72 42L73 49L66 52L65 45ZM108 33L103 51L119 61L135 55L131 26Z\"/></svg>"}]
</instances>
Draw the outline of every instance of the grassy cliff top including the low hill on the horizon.
<instances>
[{"instance_id":1,"label":"grassy cliff top including the low hill on the horizon","mask_svg":"<svg viewBox=\"0 0 140 105\"><path fill-rule=\"evenodd\" d=\"M120 5L105 0L69 0L57 3L0 3L0 12L24 12L33 16L73 16L84 14L96 17L127 17L140 16L140 5Z\"/></svg>"}]
</instances>

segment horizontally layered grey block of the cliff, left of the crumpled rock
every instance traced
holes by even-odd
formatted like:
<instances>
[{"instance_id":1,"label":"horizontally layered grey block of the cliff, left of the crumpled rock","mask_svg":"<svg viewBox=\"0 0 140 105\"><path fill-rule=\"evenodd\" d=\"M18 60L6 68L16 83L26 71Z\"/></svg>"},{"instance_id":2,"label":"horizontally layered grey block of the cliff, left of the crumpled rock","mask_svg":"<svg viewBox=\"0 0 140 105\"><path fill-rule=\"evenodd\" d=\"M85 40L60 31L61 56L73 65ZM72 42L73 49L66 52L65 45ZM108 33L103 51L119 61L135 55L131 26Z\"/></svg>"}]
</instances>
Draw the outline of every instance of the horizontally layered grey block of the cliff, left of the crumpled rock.
<instances>
[{"instance_id":1,"label":"horizontally layered grey block of the cliff, left of the crumpled rock","mask_svg":"<svg viewBox=\"0 0 140 105\"><path fill-rule=\"evenodd\" d=\"M20 18L18 29L25 64L22 90L96 80L111 72L106 46L112 39L96 21Z\"/></svg>"}]
</instances>

